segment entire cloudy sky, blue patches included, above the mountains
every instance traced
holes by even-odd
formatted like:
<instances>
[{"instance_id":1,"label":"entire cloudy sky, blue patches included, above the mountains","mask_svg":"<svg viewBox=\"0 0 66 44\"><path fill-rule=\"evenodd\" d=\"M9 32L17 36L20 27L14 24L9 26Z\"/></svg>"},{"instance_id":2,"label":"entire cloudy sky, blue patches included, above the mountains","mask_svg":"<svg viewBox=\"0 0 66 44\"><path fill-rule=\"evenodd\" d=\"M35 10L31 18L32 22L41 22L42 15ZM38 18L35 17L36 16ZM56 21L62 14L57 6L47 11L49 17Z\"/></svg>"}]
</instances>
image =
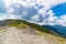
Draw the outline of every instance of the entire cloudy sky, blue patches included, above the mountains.
<instances>
[{"instance_id":1,"label":"entire cloudy sky, blue patches included, above the mountains","mask_svg":"<svg viewBox=\"0 0 66 44\"><path fill-rule=\"evenodd\" d=\"M0 20L4 19L66 26L66 0L0 0Z\"/></svg>"}]
</instances>

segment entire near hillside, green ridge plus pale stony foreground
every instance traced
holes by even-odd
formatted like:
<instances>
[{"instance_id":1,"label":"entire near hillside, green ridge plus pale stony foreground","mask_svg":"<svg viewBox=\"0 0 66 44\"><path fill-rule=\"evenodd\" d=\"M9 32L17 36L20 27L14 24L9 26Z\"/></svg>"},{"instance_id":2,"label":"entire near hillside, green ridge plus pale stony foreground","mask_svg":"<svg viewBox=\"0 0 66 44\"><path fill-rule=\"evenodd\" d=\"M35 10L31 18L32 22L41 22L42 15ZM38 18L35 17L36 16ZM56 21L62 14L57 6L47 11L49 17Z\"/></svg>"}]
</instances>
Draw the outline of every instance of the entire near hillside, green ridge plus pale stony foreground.
<instances>
[{"instance_id":1,"label":"entire near hillside, green ridge plus pale stony foreground","mask_svg":"<svg viewBox=\"0 0 66 44\"><path fill-rule=\"evenodd\" d=\"M22 42L24 44L66 44L66 38L55 35L54 32L50 31L44 26L30 23L23 20L10 20L10 19L3 20L0 21L0 28L2 29L2 30L0 29L1 32L9 33L7 35L7 38L2 41L4 42L3 44L6 44L6 41L9 38L10 41L12 41L11 38L16 38L16 40L21 38L21 41L18 42L13 40L15 41L15 44L19 43L22 44ZM10 44L14 44L14 42Z\"/></svg>"}]
</instances>

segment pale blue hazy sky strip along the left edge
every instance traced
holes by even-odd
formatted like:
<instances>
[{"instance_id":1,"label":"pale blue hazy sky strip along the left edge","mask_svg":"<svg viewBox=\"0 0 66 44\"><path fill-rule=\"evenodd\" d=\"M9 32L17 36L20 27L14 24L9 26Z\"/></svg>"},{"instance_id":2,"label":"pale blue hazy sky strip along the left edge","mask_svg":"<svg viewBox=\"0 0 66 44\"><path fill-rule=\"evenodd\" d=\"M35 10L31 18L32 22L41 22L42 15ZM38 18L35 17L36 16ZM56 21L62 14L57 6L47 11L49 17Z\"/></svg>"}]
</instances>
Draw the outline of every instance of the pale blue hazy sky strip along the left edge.
<instances>
[{"instance_id":1,"label":"pale blue hazy sky strip along the left edge","mask_svg":"<svg viewBox=\"0 0 66 44\"><path fill-rule=\"evenodd\" d=\"M0 20L4 20L7 18L8 14L6 14L4 3L0 0Z\"/></svg>"}]
</instances>

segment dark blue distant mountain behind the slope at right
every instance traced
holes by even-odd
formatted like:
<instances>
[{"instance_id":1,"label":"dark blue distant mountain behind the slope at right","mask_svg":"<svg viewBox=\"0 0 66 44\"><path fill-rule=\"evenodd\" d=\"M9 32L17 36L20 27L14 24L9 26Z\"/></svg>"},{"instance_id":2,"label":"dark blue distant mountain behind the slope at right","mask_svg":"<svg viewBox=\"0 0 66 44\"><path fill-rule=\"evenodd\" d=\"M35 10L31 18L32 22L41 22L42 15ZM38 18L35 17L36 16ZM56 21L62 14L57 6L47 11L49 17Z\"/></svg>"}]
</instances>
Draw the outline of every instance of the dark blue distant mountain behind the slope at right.
<instances>
[{"instance_id":1,"label":"dark blue distant mountain behind the slope at right","mask_svg":"<svg viewBox=\"0 0 66 44\"><path fill-rule=\"evenodd\" d=\"M43 25L43 26L50 29L51 31L55 32L58 35L66 37L66 26L62 25Z\"/></svg>"}]
</instances>

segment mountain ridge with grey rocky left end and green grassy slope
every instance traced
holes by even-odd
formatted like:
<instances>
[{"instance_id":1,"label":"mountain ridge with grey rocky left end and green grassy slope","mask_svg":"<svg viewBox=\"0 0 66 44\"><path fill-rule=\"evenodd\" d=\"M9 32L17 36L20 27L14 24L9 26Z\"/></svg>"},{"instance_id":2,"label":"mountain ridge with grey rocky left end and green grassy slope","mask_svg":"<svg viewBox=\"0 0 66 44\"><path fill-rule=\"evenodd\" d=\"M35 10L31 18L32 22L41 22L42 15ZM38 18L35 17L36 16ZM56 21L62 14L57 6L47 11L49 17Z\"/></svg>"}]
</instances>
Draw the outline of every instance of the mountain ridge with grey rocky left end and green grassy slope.
<instances>
[{"instance_id":1,"label":"mountain ridge with grey rocky left end and green grassy slope","mask_svg":"<svg viewBox=\"0 0 66 44\"><path fill-rule=\"evenodd\" d=\"M23 24L23 28L24 28L24 24L25 24L25 28L26 28L26 25L30 25L31 28L37 29L37 30L41 31L41 32L47 31L47 33L53 34L51 31L48 31L48 30L47 30L46 28L44 28L44 26L34 24L34 23L30 23L30 22L26 22L26 21L23 21L23 20L15 20L15 19L12 20L12 19L8 19L8 20L1 21L1 24L2 24L2 26L16 26L16 28L22 28L21 24ZM40 30L40 29L41 29L41 30Z\"/></svg>"}]
</instances>

